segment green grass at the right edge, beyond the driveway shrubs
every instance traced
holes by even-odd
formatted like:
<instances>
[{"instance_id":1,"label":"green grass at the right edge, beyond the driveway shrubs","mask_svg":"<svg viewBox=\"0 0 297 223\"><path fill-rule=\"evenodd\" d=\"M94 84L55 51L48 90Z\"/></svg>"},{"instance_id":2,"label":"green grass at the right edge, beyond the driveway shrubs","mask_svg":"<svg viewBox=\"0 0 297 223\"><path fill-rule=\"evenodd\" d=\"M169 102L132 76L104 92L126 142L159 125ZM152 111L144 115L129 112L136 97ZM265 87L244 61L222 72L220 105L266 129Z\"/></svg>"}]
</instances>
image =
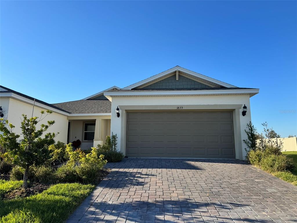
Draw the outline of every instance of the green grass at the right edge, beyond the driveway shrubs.
<instances>
[{"instance_id":1,"label":"green grass at the right edge, beyond the driveway shrubs","mask_svg":"<svg viewBox=\"0 0 297 223\"><path fill-rule=\"evenodd\" d=\"M282 152L282 153L293 159L294 168L290 172L282 171L282 172L274 172L272 174L282 180L285 180L297 186L297 151Z\"/></svg>"}]
</instances>

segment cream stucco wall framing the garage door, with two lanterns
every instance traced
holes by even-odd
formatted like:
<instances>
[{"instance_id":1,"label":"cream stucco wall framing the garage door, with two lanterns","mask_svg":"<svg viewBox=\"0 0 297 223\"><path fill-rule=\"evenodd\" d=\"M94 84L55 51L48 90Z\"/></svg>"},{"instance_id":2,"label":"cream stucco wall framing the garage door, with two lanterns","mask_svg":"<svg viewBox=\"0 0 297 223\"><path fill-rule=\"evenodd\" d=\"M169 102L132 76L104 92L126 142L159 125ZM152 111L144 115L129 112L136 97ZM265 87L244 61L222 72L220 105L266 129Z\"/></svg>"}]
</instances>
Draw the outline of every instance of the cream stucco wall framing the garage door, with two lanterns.
<instances>
[{"instance_id":1,"label":"cream stucco wall framing the garage door, with two lanterns","mask_svg":"<svg viewBox=\"0 0 297 223\"><path fill-rule=\"evenodd\" d=\"M111 129L118 136L118 150L126 153L126 111L127 110L214 110L230 109L233 111L236 158L245 159L246 152L243 139L247 136L244 130L251 121L249 95L204 95L204 96L159 96L159 97L112 97ZM247 115L242 116L242 107L248 108ZM119 106L120 117L116 116Z\"/></svg>"}]
</instances>

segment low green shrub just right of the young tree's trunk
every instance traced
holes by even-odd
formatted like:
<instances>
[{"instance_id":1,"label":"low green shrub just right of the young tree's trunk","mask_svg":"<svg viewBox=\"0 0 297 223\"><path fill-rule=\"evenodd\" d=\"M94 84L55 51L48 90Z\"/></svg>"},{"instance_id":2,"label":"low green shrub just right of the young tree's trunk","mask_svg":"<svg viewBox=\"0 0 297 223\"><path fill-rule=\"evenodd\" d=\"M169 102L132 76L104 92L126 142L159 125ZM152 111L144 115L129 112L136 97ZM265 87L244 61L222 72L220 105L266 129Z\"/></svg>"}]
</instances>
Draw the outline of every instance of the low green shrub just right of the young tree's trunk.
<instances>
[{"instance_id":1,"label":"low green shrub just right of the young tree's trunk","mask_svg":"<svg viewBox=\"0 0 297 223\"><path fill-rule=\"evenodd\" d=\"M42 183L51 183L54 181L54 173L52 167L40 166L33 167L31 170L32 180Z\"/></svg>"}]
</instances>

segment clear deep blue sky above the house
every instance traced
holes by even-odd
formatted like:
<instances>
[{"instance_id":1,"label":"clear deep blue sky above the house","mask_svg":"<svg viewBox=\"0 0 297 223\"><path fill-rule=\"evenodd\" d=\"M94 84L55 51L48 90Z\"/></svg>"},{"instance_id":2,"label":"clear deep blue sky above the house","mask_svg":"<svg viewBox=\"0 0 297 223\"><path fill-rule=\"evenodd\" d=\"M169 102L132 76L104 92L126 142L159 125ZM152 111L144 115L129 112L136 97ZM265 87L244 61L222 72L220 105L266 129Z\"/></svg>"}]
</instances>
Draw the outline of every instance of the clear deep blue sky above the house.
<instances>
[{"instance_id":1,"label":"clear deep blue sky above the house","mask_svg":"<svg viewBox=\"0 0 297 223\"><path fill-rule=\"evenodd\" d=\"M0 1L0 84L48 103L179 65L238 87L297 135L297 1ZM249 112L248 111L248 112Z\"/></svg>"}]
</instances>

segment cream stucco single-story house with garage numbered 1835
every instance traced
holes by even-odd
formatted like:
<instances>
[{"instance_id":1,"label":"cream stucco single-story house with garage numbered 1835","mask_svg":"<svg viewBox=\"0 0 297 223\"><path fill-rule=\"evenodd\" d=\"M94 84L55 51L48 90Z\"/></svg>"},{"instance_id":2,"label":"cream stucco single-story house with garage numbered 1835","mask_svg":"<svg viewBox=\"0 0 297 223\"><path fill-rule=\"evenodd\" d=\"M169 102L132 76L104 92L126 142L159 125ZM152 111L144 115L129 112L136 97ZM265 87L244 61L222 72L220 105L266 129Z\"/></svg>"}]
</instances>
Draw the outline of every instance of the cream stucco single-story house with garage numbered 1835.
<instances>
[{"instance_id":1,"label":"cream stucco single-story house with garage numbered 1835","mask_svg":"<svg viewBox=\"0 0 297 223\"><path fill-rule=\"evenodd\" d=\"M242 140L251 121L249 98L258 92L176 66L82 100L36 100L34 116L52 110L47 118L56 120L50 131L61 132L56 140L80 139L82 149L104 143L113 132L118 150L128 157L245 159ZM22 113L32 113L34 98L1 86L0 100L4 117L14 125Z\"/></svg>"}]
</instances>

